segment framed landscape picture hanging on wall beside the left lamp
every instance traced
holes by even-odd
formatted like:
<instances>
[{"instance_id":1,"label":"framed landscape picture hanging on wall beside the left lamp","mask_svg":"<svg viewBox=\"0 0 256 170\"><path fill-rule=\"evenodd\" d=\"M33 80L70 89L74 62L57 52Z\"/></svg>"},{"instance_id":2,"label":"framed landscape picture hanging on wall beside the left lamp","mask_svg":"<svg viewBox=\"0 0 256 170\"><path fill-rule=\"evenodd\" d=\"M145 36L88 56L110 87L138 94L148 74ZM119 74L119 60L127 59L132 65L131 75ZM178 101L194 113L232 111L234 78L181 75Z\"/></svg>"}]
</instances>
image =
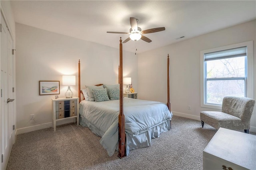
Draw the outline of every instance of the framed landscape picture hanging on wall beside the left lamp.
<instances>
[{"instance_id":1,"label":"framed landscape picture hanging on wall beside the left lamp","mask_svg":"<svg viewBox=\"0 0 256 170\"><path fill-rule=\"evenodd\" d=\"M60 94L60 81L39 81L39 95Z\"/></svg>"}]
</instances>

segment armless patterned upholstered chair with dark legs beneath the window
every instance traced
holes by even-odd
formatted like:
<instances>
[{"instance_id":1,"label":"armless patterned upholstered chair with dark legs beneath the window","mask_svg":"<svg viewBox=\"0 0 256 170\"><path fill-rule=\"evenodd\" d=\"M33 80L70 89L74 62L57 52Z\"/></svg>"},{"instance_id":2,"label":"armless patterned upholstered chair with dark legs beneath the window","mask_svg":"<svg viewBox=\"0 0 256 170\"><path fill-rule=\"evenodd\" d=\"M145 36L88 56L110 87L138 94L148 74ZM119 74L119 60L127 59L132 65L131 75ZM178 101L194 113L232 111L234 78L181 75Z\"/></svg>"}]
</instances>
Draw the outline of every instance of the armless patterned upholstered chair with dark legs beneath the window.
<instances>
[{"instance_id":1,"label":"armless patterned upholstered chair with dark legs beneath the window","mask_svg":"<svg viewBox=\"0 0 256 170\"><path fill-rule=\"evenodd\" d=\"M244 129L249 133L250 119L255 100L247 97L226 96L222 101L222 111L202 111L200 119L202 128L204 123L216 128L228 128L232 130Z\"/></svg>"}]
</instances>

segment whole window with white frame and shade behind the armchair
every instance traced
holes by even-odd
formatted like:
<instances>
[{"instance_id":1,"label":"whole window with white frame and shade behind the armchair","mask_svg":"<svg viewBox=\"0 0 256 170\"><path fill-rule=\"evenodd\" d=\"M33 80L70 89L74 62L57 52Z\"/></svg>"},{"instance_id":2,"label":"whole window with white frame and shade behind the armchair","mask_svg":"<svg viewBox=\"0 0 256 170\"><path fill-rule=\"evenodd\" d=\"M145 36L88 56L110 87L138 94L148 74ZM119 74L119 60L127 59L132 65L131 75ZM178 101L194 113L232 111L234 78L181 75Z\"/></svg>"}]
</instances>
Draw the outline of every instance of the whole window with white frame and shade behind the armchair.
<instances>
[{"instance_id":1,"label":"whole window with white frame and shade behind the armchair","mask_svg":"<svg viewBox=\"0 0 256 170\"><path fill-rule=\"evenodd\" d=\"M224 96L253 98L252 41L201 51L201 107L221 109Z\"/></svg>"}]
</instances>

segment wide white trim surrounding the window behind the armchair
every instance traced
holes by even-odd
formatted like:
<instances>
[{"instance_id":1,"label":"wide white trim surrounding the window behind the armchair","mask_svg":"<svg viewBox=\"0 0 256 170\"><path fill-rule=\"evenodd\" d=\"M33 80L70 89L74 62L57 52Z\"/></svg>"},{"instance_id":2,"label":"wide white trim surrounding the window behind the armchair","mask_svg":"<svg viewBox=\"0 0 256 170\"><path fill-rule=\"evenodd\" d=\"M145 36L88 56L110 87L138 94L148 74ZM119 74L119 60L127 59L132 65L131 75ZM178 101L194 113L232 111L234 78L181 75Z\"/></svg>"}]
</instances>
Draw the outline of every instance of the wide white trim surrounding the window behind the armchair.
<instances>
[{"instance_id":1,"label":"wide white trim surrounding the window behind the armchair","mask_svg":"<svg viewBox=\"0 0 256 170\"><path fill-rule=\"evenodd\" d=\"M223 47L217 47L213 49L206 49L203 51L200 51L200 91L201 91L201 107L206 107L206 108L211 108L211 109L221 109L222 106L220 105L209 105L205 104L204 102L204 96L205 96L205 86L204 86L204 54L205 53L211 53L215 51L221 51L221 50L226 50L226 49L231 49L231 48L236 48L236 47L243 47L247 46L247 60L246 60L246 65L247 65L247 97L253 99L253 41L248 41L248 42L242 42L242 43L236 43L232 45L226 45Z\"/></svg>"}]
</instances>

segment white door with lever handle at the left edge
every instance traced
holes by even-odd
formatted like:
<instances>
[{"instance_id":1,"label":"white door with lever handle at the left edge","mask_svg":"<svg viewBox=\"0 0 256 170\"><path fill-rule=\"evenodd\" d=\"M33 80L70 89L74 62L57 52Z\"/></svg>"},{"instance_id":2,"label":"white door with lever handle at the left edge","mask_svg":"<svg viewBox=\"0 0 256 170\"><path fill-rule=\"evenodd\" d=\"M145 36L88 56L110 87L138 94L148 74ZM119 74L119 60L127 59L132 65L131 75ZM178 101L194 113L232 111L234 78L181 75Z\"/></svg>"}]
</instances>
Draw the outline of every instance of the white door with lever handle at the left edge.
<instances>
[{"instance_id":1,"label":"white door with lever handle at the left edge","mask_svg":"<svg viewBox=\"0 0 256 170\"><path fill-rule=\"evenodd\" d=\"M0 57L0 89L1 89L1 98L0 98L0 137L1 137L1 166L0 169L6 169L10 152L12 150L12 144L14 142L14 104L11 99L13 99L12 87L14 87L14 71L13 71L13 40L8 31L6 23L1 13L1 57Z\"/></svg>"}]
</instances>

